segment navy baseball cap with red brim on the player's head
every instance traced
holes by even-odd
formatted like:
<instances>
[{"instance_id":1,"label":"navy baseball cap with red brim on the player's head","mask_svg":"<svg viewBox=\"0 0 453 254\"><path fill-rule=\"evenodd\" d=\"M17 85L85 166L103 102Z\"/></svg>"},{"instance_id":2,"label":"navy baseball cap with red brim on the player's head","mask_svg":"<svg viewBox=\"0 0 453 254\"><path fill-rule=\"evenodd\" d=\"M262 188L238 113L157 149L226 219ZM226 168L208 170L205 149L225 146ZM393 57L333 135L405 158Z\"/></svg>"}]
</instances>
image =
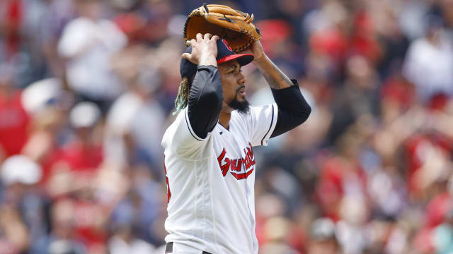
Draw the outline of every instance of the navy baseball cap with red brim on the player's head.
<instances>
[{"instance_id":1,"label":"navy baseball cap with red brim on the player's head","mask_svg":"<svg viewBox=\"0 0 453 254\"><path fill-rule=\"evenodd\" d=\"M192 52L192 47L189 46L185 53ZM253 61L253 54L234 54L231 47L229 47L228 42L226 40L219 38L217 40L217 63L225 63L227 61L236 60L241 66L245 66L248 63ZM187 59L181 59L181 63L179 66L179 71L181 74L181 78L190 77L191 75L197 72L197 65L188 61Z\"/></svg>"}]
</instances>

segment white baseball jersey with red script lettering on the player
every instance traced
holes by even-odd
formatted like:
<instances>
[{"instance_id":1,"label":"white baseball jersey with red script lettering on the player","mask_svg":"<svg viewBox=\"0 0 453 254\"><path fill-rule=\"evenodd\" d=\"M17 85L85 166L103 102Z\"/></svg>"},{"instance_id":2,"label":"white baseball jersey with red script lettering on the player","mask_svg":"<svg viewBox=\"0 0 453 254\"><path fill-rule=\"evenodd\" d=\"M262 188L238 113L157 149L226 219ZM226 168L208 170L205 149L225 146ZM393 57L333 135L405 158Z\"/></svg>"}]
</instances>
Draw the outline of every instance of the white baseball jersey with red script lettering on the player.
<instances>
[{"instance_id":1,"label":"white baseball jersey with red script lettering on the player","mask_svg":"<svg viewBox=\"0 0 453 254\"><path fill-rule=\"evenodd\" d=\"M258 253L253 147L268 145L276 121L276 104L251 107L249 114L232 111L229 130L217 123L199 138L187 107L178 114L162 140L166 242L187 246L184 253Z\"/></svg>"}]
</instances>

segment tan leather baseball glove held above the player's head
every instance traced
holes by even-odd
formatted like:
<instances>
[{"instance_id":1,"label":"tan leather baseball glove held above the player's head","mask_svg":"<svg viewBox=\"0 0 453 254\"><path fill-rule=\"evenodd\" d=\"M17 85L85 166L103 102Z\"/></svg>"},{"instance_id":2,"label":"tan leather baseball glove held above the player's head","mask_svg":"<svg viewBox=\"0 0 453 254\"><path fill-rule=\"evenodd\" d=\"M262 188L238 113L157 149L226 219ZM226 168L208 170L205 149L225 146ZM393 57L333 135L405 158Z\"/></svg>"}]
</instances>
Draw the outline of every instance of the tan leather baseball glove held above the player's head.
<instances>
[{"instance_id":1,"label":"tan leather baseball glove held above the player's head","mask_svg":"<svg viewBox=\"0 0 453 254\"><path fill-rule=\"evenodd\" d=\"M234 10L229 6L205 4L190 13L184 25L184 40L195 39L197 33L219 35L234 52L240 52L257 40L260 30L252 23L253 14Z\"/></svg>"}]
</instances>

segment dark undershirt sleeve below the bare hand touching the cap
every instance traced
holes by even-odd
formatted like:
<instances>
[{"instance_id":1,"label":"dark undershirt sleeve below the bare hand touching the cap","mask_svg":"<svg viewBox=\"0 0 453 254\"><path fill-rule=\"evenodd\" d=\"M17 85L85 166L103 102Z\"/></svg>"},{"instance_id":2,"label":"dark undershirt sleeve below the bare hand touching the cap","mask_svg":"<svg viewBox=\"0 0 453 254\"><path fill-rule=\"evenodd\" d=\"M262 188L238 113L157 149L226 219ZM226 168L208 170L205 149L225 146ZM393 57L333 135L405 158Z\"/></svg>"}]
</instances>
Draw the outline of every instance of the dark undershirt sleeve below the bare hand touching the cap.
<instances>
[{"instance_id":1,"label":"dark undershirt sleeve below the bare hand touching the cap","mask_svg":"<svg viewBox=\"0 0 453 254\"><path fill-rule=\"evenodd\" d=\"M190 126L198 137L206 138L219 121L222 92L222 80L217 67L198 66L188 100Z\"/></svg>"}]
</instances>

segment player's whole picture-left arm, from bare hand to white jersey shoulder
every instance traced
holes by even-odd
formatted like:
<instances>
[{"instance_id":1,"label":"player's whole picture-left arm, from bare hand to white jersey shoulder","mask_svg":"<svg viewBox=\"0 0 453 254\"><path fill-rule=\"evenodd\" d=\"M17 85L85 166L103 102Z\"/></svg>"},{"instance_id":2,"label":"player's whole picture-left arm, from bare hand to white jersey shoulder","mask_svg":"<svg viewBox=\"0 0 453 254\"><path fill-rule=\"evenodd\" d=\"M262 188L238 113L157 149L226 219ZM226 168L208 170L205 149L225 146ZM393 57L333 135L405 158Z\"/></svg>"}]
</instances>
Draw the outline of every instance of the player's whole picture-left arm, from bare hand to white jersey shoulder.
<instances>
[{"instance_id":1,"label":"player's whole picture-left arm, from bare hand to white jersey shoulder","mask_svg":"<svg viewBox=\"0 0 453 254\"><path fill-rule=\"evenodd\" d=\"M190 87L188 107L178 114L168 127L162 146L185 159L205 157L209 133L219 119L222 109L222 80L217 70L218 36L197 35L191 40L192 52L183 58L197 65L197 73Z\"/></svg>"}]
</instances>

